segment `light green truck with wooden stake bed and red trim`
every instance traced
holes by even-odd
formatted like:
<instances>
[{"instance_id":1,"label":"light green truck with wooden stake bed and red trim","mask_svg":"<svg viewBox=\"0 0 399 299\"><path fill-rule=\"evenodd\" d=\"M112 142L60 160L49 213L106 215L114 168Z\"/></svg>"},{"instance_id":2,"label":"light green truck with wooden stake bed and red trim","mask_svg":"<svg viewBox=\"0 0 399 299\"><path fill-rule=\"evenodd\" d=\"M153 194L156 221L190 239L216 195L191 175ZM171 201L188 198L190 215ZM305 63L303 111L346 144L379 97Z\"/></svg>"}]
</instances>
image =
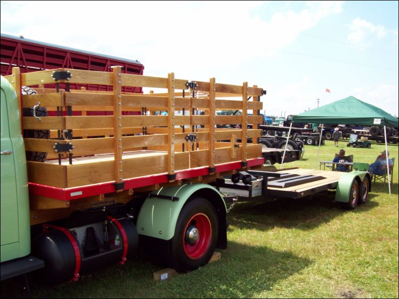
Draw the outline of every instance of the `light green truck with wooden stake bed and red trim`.
<instances>
[{"instance_id":1,"label":"light green truck with wooden stake bed and red trim","mask_svg":"<svg viewBox=\"0 0 399 299\"><path fill-rule=\"evenodd\" d=\"M54 82L55 89L47 88ZM80 84L111 86L112 91L73 88ZM22 86L35 91L21 94ZM122 92L124 86L166 92ZM194 90L208 96L195 98ZM112 73L55 69L25 74L13 68L12 75L1 77L1 279L44 267L49 281L77 280L106 265L123 264L139 245L164 256L177 271L206 264L215 248L227 246L227 199L208 183L264 162L256 143L260 129L217 129L215 124L255 127L262 122L256 112L262 109L263 93L247 83L194 82L173 73L130 75L120 67ZM225 99L232 96L238 100ZM122 113L143 107L168 115ZM175 114L193 107L207 115ZM23 109L31 115L21 118ZM73 114L101 109L112 115ZM243 113L216 116L215 109ZM193 132L193 126L203 128ZM219 142L225 140L230 142ZM36 159L25 156L25 150L45 155Z\"/></svg>"}]
</instances>

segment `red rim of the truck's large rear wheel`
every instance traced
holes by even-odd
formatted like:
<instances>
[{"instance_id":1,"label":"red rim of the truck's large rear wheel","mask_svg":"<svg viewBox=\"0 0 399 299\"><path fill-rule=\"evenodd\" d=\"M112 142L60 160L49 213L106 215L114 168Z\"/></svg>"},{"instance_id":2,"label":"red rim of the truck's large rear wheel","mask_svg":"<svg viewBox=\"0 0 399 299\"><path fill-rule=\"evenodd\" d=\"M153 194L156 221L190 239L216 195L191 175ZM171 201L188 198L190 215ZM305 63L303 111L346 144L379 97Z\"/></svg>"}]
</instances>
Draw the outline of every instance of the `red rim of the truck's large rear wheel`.
<instances>
[{"instance_id":1,"label":"red rim of the truck's large rear wheel","mask_svg":"<svg viewBox=\"0 0 399 299\"><path fill-rule=\"evenodd\" d=\"M198 237L191 242L187 235L190 231L198 230ZM183 248L187 257L192 260L201 258L208 250L212 237L212 225L209 218L202 213L195 214L187 222L183 235Z\"/></svg>"}]
</instances>

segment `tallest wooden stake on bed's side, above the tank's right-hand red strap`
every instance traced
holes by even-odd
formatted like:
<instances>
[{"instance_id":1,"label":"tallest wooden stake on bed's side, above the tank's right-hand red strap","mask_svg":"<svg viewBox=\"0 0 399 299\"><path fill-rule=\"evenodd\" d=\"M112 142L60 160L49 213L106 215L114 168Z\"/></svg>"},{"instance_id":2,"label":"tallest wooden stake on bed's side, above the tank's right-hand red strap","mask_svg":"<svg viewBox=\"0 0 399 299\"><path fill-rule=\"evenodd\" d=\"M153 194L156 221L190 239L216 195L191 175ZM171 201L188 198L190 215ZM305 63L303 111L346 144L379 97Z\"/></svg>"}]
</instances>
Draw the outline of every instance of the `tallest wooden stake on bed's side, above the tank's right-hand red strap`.
<instances>
[{"instance_id":1,"label":"tallest wooden stake on bed's side, above the tank's right-hand red strap","mask_svg":"<svg viewBox=\"0 0 399 299\"><path fill-rule=\"evenodd\" d=\"M115 183L123 182L122 175L122 69L112 67L113 80L113 147L114 147L114 178ZM123 191L116 188L116 191Z\"/></svg>"}]
</instances>

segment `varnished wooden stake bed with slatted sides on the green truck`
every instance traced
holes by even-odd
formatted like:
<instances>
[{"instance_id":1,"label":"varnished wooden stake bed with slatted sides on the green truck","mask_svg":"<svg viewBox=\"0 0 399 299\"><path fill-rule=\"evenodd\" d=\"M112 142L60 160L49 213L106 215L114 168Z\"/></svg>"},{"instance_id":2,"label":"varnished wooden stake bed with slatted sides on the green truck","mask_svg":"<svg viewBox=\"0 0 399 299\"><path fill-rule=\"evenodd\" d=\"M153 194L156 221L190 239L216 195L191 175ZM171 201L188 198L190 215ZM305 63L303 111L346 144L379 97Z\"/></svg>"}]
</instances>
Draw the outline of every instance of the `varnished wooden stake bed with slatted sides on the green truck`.
<instances>
[{"instance_id":1,"label":"varnished wooden stake bed with slatted sides on the green truck","mask_svg":"<svg viewBox=\"0 0 399 299\"><path fill-rule=\"evenodd\" d=\"M20 90L13 79L16 75L15 71L7 79ZM22 95L21 108L40 103L49 115L58 115L22 120L24 130L50 133L50 139L24 139L26 150L47 153L45 162L27 162L28 180L34 186L30 190L35 194L44 195L37 191L43 188L60 191L104 183L115 184L109 192L121 191L131 189L133 179L134 186L141 187L151 184L152 176L173 182L263 163L262 146L256 144L261 130L247 129L249 124L257 128L262 123L258 111L263 90L246 82L237 86L211 78L191 83L175 79L173 73L168 77L121 74L120 67L113 68L113 73L57 69L20 78L20 85L33 86L38 92ZM109 85L113 91L45 88L54 82ZM164 88L165 92L122 93L122 86ZM243 113L222 116L216 110ZM253 115L247 110L253 110ZM103 114L92 115L92 111ZM217 129L221 124L241 124L243 129ZM248 139L253 143L247 143ZM222 142L226 140L230 142ZM44 196L69 198L52 193Z\"/></svg>"}]
</instances>

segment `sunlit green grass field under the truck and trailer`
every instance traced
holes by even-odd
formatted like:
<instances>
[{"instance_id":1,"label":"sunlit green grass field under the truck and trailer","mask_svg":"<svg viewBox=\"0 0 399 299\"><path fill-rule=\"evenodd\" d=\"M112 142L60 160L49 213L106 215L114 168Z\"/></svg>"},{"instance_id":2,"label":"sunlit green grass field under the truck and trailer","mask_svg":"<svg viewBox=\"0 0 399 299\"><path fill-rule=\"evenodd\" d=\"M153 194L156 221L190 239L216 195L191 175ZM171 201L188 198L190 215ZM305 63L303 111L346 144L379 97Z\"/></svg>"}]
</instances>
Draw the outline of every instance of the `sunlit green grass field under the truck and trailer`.
<instances>
[{"instance_id":1,"label":"sunlit green grass field under the truck and trailer","mask_svg":"<svg viewBox=\"0 0 399 299\"><path fill-rule=\"evenodd\" d=\"M358 162L384 150L347 148ZM317 147L286 167L315 168ZM339 148L327 141L318 160ZM398 145L390 145L398 159ZM278 166L278 165L276 165ZM317 164L318 168L318 164ZM398 166L392 195L372 184L366 205L344 211L333 195L237 204L228 214L228 248L197 271L154 282L162 267L140 255L82 277L47 286L30 278L36 298L398 298ZM1 283L1 298L27 297L17 279Z\"/></svg>"}]
</instances>

